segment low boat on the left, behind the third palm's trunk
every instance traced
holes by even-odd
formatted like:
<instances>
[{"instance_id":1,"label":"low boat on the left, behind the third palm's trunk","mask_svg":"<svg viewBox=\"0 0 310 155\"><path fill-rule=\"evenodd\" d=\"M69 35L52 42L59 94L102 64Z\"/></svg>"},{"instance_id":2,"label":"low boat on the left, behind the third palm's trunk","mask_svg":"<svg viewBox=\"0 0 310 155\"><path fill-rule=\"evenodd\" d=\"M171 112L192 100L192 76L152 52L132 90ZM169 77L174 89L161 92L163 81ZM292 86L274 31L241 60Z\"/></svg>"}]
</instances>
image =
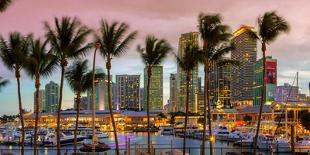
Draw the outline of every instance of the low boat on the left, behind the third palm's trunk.
<instances>
[{"instance_id":1,"label":"low boat on the left, behind the third palm's trunk","mask_svg":"<svg viewBox=\"0 0 310 155\"><path fill-rule=\"evenodd\" d=\"M81 135L77 135L76 137L77 143L81 143L85 137ZM60 145L70 145L74 143L74 135L65 135L64 133L60 133ZM56 135L54 133L46 134L46 137L43 141L44 146L56 146Z\"/></svg>"}]
</instances>

